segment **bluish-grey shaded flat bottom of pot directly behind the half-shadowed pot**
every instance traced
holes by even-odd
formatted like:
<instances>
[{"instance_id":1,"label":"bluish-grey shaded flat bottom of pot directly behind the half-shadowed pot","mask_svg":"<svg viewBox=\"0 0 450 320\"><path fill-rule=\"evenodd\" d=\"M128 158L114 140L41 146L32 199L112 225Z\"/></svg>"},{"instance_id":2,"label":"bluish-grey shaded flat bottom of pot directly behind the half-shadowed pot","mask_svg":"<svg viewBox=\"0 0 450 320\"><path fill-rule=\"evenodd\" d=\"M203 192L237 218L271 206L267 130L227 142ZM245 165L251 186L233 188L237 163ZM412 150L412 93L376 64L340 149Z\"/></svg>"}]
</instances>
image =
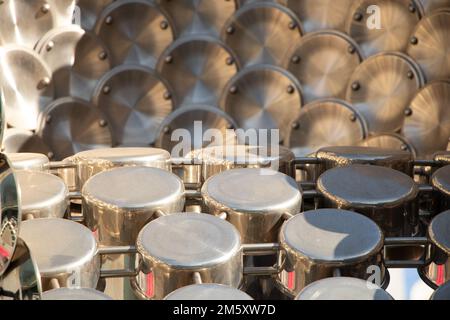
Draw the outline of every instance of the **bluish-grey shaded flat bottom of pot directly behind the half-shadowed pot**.
<instances>
[{"instance_id":1,"label":"bluish-grey shaded flat bottom of pot directly behind the half-shadowed pot","mask_svg":"<svg viewBox=\"0 0 450 320\"><path fill-rule=\"evenodd\" d=\"M406 174L359 164L326 171L319 177L317 189L343 208L395 207L418 194L416 184Z\"/></svg>"}]
</instances>

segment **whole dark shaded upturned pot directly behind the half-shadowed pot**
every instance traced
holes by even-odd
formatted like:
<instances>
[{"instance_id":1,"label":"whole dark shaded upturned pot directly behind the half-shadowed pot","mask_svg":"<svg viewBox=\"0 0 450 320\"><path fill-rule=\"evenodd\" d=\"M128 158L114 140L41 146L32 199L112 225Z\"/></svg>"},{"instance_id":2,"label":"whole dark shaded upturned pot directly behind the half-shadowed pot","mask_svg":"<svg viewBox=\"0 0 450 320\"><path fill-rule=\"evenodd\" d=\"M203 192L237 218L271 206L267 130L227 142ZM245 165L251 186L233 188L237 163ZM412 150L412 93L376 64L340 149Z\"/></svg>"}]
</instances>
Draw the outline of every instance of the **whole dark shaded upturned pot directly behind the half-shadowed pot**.
<instances>
[{"instance_id":1,"label":"whole dark shaded upturned pot directly behind the half-shadowed pot","mask_svg":"<svg viewBox=\"0 0 450 320\"><path fill-rule=\"evenodd\" d=\"M387 237L411 236L416 231L418 212L413 202L418 187L404 173L354 164L326 171L319 177L317 189L325 197L325 207L364 214L378 223Z\"/></svg>"}]
</instances>

